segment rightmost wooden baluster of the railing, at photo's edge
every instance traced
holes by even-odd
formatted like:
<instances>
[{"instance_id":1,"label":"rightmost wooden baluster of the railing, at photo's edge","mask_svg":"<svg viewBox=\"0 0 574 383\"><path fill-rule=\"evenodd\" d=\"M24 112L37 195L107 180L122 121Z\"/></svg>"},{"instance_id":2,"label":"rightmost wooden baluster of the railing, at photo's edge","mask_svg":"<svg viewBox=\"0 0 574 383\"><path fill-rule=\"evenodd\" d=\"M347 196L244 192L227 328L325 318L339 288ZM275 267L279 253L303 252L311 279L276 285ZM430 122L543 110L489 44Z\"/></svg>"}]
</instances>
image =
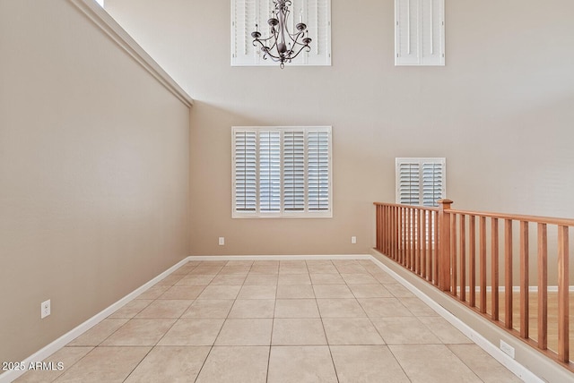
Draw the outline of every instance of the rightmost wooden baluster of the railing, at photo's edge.
<instances>
[{"instance_id":1,"label":"rightmost wooden baluster of the railing, at photo's edge","mask_svg":"<svg viewBox=\"0 0 574 383\"><path fill-rule=\"evenodd\" d=\"M558 226L558 360L570 359L568 226Z\"/></svg>"}]
</instances>

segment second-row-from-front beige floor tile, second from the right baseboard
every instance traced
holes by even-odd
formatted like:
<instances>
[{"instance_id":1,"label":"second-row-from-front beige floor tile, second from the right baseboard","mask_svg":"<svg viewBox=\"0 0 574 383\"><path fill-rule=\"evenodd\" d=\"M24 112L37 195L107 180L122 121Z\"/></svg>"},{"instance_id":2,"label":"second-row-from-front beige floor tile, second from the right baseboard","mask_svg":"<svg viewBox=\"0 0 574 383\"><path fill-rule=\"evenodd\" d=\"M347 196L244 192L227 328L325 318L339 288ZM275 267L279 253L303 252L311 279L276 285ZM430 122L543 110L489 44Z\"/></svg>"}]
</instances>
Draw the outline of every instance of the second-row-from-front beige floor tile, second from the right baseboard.
<instances>
[{"instance_id":1,"label":"second-row-from-front beige floor tile, second from the right baseboard","mask_svg":"<svg viewBox=\"0 0 574 383\"><path fill-rule=\"evenodd\" d=\"M416 317L371 318L387 345L437 345L440 342Z\"/></svg>"}]
</instances>

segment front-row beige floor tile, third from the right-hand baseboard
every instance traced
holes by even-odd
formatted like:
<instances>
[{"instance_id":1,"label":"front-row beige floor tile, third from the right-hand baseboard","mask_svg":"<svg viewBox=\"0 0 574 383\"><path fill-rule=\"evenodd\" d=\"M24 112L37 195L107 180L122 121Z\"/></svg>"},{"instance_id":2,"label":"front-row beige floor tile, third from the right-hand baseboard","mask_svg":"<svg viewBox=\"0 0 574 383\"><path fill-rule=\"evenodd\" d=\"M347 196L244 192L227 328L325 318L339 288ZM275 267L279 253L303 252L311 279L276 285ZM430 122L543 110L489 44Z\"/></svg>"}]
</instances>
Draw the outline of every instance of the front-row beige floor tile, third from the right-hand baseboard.
<instances>
[{"instance_id":1,"label":"front-row beige floor tile, third from the right-hand baseboard","mask_svg":"<svg viewBox=\"0 0 574 383\"><path fill-rule=\"evenodd\" d=\"M339 383L410 383L384 345L332 345Z\"/></svg>"}]
</instances>

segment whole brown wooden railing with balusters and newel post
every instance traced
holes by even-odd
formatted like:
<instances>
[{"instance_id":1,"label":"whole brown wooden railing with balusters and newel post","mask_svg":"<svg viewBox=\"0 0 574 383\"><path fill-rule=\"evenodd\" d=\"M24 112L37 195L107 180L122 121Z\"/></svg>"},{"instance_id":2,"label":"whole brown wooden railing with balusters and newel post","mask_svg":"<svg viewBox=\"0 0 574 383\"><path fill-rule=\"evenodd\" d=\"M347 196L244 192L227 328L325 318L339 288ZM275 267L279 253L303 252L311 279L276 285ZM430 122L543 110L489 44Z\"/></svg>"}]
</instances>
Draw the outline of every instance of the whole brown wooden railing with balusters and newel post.
<instances>
[{"instance_id":1,"label":"whole brown wooden railing with balusters and newel post","mask_svg":"<svg viewBox=\"0 0 574 383\"><path fill-rule=\"evenodd\" d=\"M574 370L569 352L574 219L456 210L451 204L375 202L377 250Z\"/></svg>"}]
</instances>

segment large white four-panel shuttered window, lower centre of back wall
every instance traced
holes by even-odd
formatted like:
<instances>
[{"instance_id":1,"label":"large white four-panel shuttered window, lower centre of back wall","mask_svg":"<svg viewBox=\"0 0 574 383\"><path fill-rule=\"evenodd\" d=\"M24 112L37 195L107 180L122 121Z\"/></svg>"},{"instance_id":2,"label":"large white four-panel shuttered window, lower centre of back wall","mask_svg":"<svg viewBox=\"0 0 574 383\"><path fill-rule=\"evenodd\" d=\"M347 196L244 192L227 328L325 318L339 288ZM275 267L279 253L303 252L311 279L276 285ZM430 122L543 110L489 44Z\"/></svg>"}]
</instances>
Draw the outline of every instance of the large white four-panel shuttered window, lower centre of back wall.
<instances>
[{"instance_id":1,"label":"large white four-panel shuttered window, lower centre of back wall","mask_svg":"<svg viewBox=\"0 0 574 383\"><path fill-rule=\"evenodd\" d=\"M332 217L331 127L233 127L232 217Z\"/></svg>"}]
</instances>

